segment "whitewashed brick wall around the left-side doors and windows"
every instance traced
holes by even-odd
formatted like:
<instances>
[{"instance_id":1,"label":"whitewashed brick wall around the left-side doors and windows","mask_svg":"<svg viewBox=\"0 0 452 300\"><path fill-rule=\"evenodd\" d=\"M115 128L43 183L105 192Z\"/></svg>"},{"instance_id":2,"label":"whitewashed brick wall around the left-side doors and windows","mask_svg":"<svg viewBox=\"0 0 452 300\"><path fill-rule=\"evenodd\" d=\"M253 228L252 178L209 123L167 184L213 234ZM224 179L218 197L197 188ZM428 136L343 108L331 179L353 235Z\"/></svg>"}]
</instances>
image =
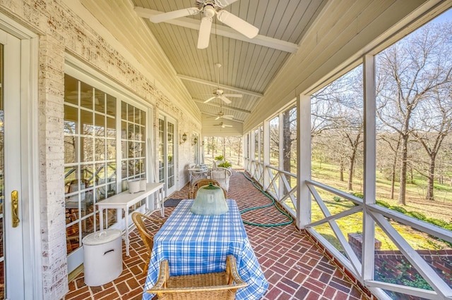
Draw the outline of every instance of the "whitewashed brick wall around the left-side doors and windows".
<instances>
[{"instance_id":1,"label":"whitewashed brick wall around the left-side doors and windows","mask_svg":"<svg viewBox=\"0 0 452 300\"><path fill-rule=\"evenodd\" d=\"M74 0L75 1L75 0ZM39 46L39 163L42 232L43 299L61 299L68 291L64 211L64 56L69 52L136 92L143 101L179 117L180 137L198 125L189 122L177 105L155 89L114 46L78 18L59 0L0 0L0 13L40 35ZM156 121L156 120L155 120ZM186 181L184 165L193 161L193 146L179 147L181 166L176 180ZM179 185L178 185L179 186ZM179 186L180 187L180 186Z\"/></svg>"}]
</instances>

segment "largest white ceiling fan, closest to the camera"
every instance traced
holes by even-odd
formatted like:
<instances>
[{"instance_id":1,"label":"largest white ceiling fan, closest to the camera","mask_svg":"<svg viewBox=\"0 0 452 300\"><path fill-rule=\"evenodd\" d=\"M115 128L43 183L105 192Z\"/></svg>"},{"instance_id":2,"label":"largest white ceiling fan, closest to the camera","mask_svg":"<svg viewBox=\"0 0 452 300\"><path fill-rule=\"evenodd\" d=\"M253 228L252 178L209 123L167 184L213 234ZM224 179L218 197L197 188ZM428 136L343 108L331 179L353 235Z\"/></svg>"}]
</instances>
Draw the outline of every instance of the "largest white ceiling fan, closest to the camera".
<instances>
[{"instance_id":1,"label":"largest white ceiling fan, closest to the camera","mask_svg":"<svg viewBox=\"0 0 452 300\"><path fill-rule=\"evenodd\" d=\"M187 15L202 14L201 25L199 26L198 49L206 49L209 45L210 30L212 28L213 16L234 30L242 33L245 37L252 39L258 34L258 28L241 18L233 15L229 11L223 11L222 8L234 3L237 0L196 0L195 7L183 8L168 13L153 15L149 20L153 23L165 22L176 18L186 17Z\"/></svg>"}]
</instances>

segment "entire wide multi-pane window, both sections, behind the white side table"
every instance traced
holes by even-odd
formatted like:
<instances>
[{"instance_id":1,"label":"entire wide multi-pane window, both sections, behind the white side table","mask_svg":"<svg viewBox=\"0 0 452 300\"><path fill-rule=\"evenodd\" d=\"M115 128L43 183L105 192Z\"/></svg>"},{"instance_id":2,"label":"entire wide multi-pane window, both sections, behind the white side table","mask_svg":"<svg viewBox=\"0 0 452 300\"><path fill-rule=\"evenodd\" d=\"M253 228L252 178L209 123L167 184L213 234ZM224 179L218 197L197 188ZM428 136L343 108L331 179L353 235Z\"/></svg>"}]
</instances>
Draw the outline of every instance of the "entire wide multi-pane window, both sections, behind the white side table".
<instances>
[{"instance_id":1,"label":"entire wide multi-pane window, both sections, behind the white side table","mask_svg":"<svg viewBox=\"0 0 452 300\"><path fill-rule=\"evenodd\" d=\"M145 177L146 113L70 75L65 75L64 83L66 245L70 254L82 246L83 237L100 230L95 204L127 189L127 180ZM117 151L121 151L120 161ZM104 228L117 223L116 210L108 209L104 220Z\"/></svg>"}]
</instances>

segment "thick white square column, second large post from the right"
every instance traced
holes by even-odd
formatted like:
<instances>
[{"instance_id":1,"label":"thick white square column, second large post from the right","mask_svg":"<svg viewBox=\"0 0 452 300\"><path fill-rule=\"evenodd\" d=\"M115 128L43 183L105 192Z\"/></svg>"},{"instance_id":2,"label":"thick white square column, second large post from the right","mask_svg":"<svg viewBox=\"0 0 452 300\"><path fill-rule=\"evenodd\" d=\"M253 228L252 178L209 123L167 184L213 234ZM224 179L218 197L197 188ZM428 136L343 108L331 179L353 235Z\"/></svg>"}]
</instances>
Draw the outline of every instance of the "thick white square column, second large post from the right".
<instances>
[{"instance_id":1,"label":"thick white square column, second large post from the right","mask_svg":"<svg viewBox=\"0 0 452 300\"><path fill-rule=\"evenodd\" d=\"M311 223L311 96L297 96L297 227Z\"/></svg>"}]
</instances>

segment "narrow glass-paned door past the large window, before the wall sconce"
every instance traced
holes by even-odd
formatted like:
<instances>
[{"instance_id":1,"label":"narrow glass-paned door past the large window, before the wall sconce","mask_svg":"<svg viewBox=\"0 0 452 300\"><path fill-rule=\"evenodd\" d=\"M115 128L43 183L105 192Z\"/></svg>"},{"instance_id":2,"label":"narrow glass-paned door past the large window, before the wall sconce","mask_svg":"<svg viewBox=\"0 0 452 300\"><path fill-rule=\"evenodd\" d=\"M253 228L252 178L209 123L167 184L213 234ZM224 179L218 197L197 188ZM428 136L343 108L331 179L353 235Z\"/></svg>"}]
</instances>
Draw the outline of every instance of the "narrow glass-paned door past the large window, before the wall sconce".
<instances>
[{"instance_id":1,"label":"narrow glass-paned door past the large window, before the wall sconce","mask_svg":"<svg viewBox=\"0 0 452 300\"><path fill-rule=\"evenodd\" d=\"M159 118L159 179L165 182L165 194L169 196L176 190L175 181L175 122L168 117Z\"/></svg>"}]
</instances>

